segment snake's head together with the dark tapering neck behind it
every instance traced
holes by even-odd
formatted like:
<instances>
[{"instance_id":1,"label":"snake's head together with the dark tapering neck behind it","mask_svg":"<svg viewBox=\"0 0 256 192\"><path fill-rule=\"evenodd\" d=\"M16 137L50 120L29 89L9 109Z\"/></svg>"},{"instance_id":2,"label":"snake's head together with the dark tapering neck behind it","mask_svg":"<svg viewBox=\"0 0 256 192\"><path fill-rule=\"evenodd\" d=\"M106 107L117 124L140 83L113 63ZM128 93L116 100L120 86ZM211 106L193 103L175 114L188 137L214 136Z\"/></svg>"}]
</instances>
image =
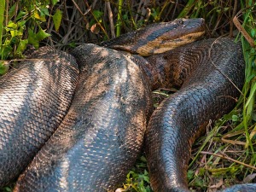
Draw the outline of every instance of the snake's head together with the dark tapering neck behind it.
<instances>
[{"instance_id":1,"label":"snake's head together with the dark tapering neck behind it","mask_svg":"<svg viewBox=\"0 0 256 192\"><path fill-rule=\"evenodd\" d=\"M142 56L164 53L201 38L205 33L204 19L177 19L155 23L113 38L101 45Z\"/></svg>"}]
</instances>

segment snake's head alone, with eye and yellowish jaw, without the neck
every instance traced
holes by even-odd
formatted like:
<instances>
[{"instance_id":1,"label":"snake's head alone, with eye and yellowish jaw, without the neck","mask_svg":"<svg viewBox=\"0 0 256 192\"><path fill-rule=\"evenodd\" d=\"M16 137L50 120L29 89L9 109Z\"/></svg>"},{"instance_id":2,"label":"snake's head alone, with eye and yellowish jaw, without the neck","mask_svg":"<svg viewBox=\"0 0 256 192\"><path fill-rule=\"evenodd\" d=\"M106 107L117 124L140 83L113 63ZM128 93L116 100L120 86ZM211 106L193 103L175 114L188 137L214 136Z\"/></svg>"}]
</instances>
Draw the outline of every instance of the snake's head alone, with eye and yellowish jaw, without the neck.
<instances>
[{"instance_id":1,"label":"snake's head alone, with eye and yellowish jaw, without the neck","mask_svg":"<svg viewBox=\"0 0 256 192\"><path fill-rule=\"evenodd\" d=\"M164 53L184 44L202 38L205 33L204 19L177 19L155 25L154 32L148 36L147 44L137 48L137 54L148 56Z\"/></svg>"}]
</instances>

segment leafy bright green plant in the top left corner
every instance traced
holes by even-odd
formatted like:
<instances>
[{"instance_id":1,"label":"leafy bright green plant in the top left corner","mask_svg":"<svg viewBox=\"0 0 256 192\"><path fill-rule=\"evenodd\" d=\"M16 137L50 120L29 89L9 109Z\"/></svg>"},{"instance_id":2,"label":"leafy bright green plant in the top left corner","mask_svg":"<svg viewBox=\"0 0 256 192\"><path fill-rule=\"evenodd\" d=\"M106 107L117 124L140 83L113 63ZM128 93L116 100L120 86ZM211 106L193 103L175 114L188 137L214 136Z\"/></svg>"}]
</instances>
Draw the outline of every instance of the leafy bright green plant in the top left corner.
<instances>
[{"instance_id":1,"label":"leafy bright green plant in the top left corner","mask_svg":"<svg viewBox=\"0 0 256 192\"><path fill-rule=\"evenodd\" d=\"M51 1L52 6L57 1ZM20 1L5 3L0 0L0 74L6 73L3 60L23 57L27 44L36 49L39 42L49 37L43 24L52 18L57 31L61 24L61 10L49 14L49 1Z\"/></svg>"}]
</instances>

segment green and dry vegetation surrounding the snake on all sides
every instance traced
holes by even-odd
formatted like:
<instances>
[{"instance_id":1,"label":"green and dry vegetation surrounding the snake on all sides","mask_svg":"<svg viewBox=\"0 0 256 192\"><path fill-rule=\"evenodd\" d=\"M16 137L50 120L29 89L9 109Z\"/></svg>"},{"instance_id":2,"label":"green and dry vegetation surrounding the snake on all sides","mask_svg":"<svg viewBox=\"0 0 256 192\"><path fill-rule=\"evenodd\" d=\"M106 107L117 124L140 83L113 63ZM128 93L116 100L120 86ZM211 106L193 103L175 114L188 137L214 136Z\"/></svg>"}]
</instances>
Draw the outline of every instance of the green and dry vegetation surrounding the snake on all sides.
<instances>
[{"instance_id":1,"label":"green and dry vegetation surrounding the snake on all sides","mask_svg":"<svg viewBox=\"0 0 256 192\"><path fill-rule=\"evenodd\" d=\"M35 48L49 44L56 49L72 49L77 44L101 42L153 22L178 17L204 18L207 38L230 36L241 41L246 61L246 81L236 108L212 128L209 126L207 135L194 145L189 188L214 191L234 183L255 182L256 3L253 0L0 0L0 73L7 71L6 60L24 56L27 44ZM233 18L241 25L237 20L234 23ZM155 98L160 94L166 92L156 91ZM11 187L2 190L11 191ZM152 191L143 156L119 190Z\"/></svg>"}]
</instances>

